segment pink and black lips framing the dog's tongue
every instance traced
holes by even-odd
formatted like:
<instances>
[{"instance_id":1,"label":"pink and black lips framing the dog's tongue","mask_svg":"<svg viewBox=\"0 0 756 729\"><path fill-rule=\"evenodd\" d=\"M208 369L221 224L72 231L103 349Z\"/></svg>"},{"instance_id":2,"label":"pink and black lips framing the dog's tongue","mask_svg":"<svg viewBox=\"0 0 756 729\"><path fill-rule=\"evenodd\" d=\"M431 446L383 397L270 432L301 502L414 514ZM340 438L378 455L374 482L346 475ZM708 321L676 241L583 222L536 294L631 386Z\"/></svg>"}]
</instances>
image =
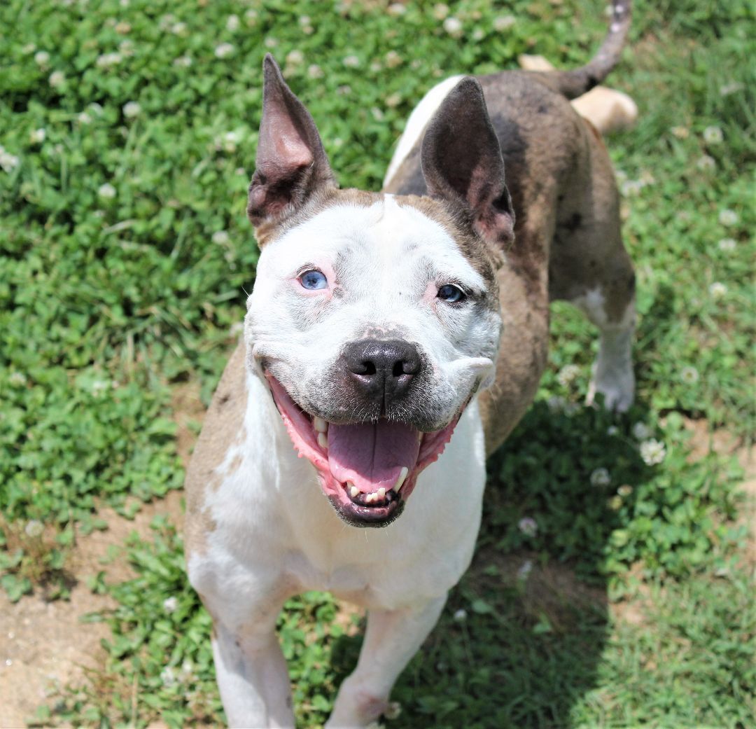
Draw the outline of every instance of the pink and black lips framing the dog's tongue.
<instances>
[{"instance_id":1,"label":"pink and black lips framing the dog's tongue","mask_svg":"<svg viewBox=\"0 0 756 729\"><path fill-rule=\"evenodd\" d=\"M269 371L265 372L265 377L299 457L307 458L314 465L318 471L321 487L336 512L347 523L355 526L386 526L399 516L404 508L404 502L417 484L417 476L442 454L460 417L457 414L446 427L432 433L420 433L416 430L418 443L416 449L411 451L415 455L411 457L410 453L407 457L407 460L412 460L414 463L401 467L401 470L394 468L393 476L390 476L388 480L372 485L358 476L352 476L354 481L342 480L336 476L349 476L350 472L349 468L344 469L338 463L333 464L333 460L329 458L330 423L318 415L305 411ZM365 423L352 424L364 425ZM376 424L376 427L380 425ZM386 427L390 429L392 426L386 423L383 428ZM406 431L408 426L403 428ZM334 467L336 467L336 475L333 473Z\"/></svg>"}]
</instances>

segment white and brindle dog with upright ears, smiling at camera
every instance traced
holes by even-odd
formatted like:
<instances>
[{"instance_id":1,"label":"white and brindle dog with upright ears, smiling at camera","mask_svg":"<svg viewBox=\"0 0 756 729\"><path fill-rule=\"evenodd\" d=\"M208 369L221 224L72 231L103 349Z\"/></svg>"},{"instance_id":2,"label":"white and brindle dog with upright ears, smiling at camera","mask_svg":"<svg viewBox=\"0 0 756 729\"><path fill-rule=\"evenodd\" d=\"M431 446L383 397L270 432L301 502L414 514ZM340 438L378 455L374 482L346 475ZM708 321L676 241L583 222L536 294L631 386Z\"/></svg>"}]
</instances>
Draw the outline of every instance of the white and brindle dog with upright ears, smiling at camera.
<instances>
[{"instance_id":1,"label":"white and brindle dog with upright ears, smiling at camera","mask_svg":"<svg viewBox=\"0 0 756 729\"><path fill-rule=\"evenodd\" d=\"M630 405L618 193L600 135L568 101L609 73L628 24L621 0L579 70L433 88L380 193L337 187L266 57L248 207L262 252L186 484L188 573L232 726L293 727L275 625L307 590L368 611L327 727L385 711L469 565L485 457L534 396L550 300L600 328L589 398Z\"/></svg>"}]
</instances>

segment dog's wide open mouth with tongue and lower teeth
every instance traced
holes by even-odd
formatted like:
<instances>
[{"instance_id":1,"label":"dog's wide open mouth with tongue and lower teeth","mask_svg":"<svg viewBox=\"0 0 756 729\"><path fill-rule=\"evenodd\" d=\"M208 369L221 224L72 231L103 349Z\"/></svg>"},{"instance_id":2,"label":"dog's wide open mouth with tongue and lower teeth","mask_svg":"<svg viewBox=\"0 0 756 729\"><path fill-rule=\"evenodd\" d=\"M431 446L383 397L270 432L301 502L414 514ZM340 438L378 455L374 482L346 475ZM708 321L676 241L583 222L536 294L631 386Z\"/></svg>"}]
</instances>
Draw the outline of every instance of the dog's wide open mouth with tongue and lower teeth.
<instances>
[{"instance_id":1,"label":"dog's wide open mouth with tongue and lower teeth","mask_svg":"<svg viewBox=\"0 0 756 729\"><path fill-rule=\"evenodd\" d=\"M329 423L302 410L275 377L266 377L294 448L318 470L325 495L353 526L392 523L417 476L442 454L459 420L454 417L432 433L386 418Z\"/></svg>"}]
</instances>

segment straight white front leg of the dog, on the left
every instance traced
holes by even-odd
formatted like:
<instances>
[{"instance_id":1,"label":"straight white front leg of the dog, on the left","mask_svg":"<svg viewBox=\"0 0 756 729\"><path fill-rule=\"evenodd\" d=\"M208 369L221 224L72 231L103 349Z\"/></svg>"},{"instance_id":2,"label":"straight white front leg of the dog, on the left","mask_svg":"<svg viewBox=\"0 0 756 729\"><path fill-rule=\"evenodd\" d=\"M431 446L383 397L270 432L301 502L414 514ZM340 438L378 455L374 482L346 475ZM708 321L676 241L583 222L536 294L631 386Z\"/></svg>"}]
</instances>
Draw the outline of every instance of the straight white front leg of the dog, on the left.
<instances>
[{"instance_id":1,"label":"straight white front leg of the dog, on the left","mask_svg":"<svg viewBox=\"0 0 756 729\"><path fill-rule=\"evenodd\" d=\"M289 675L274 625L231 630L215 622L212 654L229 727L293 729Z\"/></svg>"}]
</instances>

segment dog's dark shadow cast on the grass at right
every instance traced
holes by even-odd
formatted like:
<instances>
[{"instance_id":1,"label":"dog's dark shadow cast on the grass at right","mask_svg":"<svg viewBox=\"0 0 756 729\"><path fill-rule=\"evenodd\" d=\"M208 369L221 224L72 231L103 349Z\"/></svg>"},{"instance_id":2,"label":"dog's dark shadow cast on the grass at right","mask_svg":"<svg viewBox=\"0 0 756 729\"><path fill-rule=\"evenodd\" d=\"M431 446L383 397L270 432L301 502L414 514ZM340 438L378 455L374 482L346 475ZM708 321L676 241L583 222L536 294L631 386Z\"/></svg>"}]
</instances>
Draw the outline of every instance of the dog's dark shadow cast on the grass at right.
<instances>
[{"instance_id":1,"label":"dog's dark shadow cast on the grass at right","mask_svg":"<svg viewBox=\"0 0 756 729\"><path fill-rule=\"evenodd\" d=\"M570 727L609 630L606 575L627 561L622 527L649 468L632 420L537 402L489 461L476 556L400 676L394 729ZM360 636L339 637L337 682Z\"/></svg>"}]
</instances>

